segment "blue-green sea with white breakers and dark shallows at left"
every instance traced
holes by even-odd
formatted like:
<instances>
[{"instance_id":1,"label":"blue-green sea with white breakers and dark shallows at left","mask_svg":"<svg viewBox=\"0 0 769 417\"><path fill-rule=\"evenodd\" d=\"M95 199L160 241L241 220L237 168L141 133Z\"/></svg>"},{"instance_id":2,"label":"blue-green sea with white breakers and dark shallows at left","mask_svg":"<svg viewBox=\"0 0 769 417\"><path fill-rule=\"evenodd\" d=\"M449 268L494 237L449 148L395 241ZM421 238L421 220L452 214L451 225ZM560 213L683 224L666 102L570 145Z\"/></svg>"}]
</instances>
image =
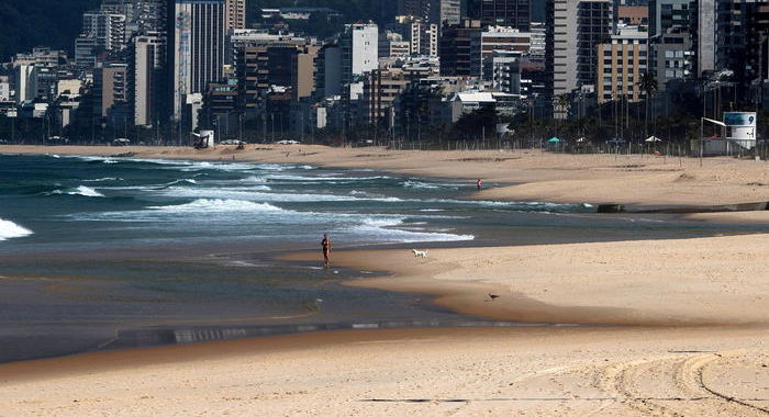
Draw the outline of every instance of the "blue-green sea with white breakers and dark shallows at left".
<instances>
[{"instance_id":1,"label":"blue-green sea with white breakers and dark shallows at left","mask_svg":"<svg viewBox=\"0 0 769 417\"><path fill-rule=\"evenodd\" d=\"M337 248L408 250L756 232L599 215L590 204L470 201L472 191L473 182L301 165L0 155L0 361L486 324L421 294L341 285L374 271L276 260L320 251L324 233Z\"/></svg>"}]
</instances>

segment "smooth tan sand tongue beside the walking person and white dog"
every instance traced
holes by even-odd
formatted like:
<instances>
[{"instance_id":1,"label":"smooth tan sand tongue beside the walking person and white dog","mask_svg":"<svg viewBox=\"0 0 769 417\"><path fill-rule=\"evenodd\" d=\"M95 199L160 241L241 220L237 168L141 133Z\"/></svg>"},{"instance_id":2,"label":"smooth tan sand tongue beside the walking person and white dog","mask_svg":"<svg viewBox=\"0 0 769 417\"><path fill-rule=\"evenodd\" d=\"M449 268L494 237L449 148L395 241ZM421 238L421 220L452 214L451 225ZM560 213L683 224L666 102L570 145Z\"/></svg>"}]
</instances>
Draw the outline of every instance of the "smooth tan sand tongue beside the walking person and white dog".
<instances>
[{"instance_id":1,"label":"smooth tan sand tongue beside the walking person and white dog","mask_svg":"<svg viewBox=\"0 0 769 417\"><path fill-rule=\"evenodd\" d=\"M765 308L769 282L751 284L746 277L769 278L769 267L761 264L769 256L767 245L768 234L755 234L439 248L431 249L426 259L415 258L406 249L346 250L336 252L332 261L382 273L345 281L344 285L430 294L438 306L501 322L762 326L769 324ZM622 257L642 251L644 257ZM711 251L720 256L704 256ZM305 261L312 257L299 252L281 259ZM692 261L699 264L687 267ZM666 271L676 271L676 294L668 293L672 283L659 281ZM701 277L717 277L718 281L703 282ZM593 297L597 293L603 296ZM707 308L702 308L705 305Z\"/></svg>"}]
</instances>

